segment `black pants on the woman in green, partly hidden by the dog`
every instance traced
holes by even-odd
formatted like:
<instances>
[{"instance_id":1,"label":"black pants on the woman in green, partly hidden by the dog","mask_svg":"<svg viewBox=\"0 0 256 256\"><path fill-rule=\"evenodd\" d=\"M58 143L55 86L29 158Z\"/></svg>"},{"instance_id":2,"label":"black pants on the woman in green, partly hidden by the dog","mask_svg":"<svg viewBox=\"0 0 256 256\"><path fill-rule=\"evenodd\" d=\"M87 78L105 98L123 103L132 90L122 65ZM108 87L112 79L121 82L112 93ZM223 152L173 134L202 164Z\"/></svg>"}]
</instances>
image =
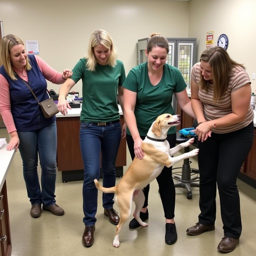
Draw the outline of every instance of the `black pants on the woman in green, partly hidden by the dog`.
<instances>
[{"instance_id":1,"label":"black pants on the woman in green, partly hidden by the dog","mask_svg":"<svg viewBox=\"0 0 256 256\"><path fill-rule=\"evenodd\" d=\"M141 136L141 139L144 140L145 136ZM134 142L131 135L126 135L127 145L130 151L131 158L134 159ZM167 141L170 144L170 148L175 147L176 145L176 134L168 134ZM159 142L160 143L160 142ZM166 219L174 218L174 208L175 208L175 187L172 179L172 167L167 168L166 166L163 168L162 172L156 178L159 193L162 200L163 208L164 208L164 216ZM149 184L143 189L143 193L145 196L145 202L143 208L148 206L148 193L149 193Z\"/></svg>"}]
</instances>

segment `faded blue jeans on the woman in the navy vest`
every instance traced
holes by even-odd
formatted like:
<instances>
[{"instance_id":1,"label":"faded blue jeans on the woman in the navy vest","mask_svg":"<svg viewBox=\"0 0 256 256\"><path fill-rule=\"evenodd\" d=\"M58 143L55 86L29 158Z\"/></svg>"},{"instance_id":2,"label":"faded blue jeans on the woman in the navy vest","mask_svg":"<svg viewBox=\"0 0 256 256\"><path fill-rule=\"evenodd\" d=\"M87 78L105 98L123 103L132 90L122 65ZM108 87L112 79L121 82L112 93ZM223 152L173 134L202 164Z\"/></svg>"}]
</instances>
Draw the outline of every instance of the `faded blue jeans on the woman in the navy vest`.
<instances>
[{"instance_id":1,"label":"faded blue jeans on the woman in the navy vest","mask_svg":"<svg viewBox=\"0 0 256 256\"><path fill-rule=\"evenodd\" d=\"M18 132L18 136L20 141L19 151L23 163L23 176L31 205L43 204L48 207L55 204L56 121L39 130ZM42 169L42 191L37 173L38 155Z\"/></svg>"}]
</instances>

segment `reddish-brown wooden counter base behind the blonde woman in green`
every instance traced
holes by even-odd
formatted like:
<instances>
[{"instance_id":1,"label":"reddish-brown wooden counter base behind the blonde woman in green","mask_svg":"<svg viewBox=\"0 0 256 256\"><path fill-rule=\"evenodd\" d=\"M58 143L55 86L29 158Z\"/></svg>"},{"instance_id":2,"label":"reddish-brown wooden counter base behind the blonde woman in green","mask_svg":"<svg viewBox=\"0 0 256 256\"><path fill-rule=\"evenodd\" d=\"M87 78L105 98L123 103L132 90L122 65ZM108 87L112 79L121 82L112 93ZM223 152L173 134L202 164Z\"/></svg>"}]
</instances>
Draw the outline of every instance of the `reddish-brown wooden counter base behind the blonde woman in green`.
<instances>
[{"instance_id":1,"label":"reddish-brown wooden counter base behind the blonde woman in green","mask_svg":"<svg viewBox=\"0 0 256 256\"><path fill-rule=\"evenodd\" d=\"M121 115L121 125L124 124L124 118ZM78 171L83 170L83 161L80 151L80 117L61 117L57 118L57 165L58 171ZM126 140L121 138L118 155L116 158L116 167L126 165ZM75 174L75 172L73 173ZM116 176L123 176L118 173L116 168ZM63 175L62 175L63 177ZM82 173L83 177L83 173ZM80 179L80 178L79 178ZM62 180L63 181L63 180Z\"/></svg>"}]
</instances>

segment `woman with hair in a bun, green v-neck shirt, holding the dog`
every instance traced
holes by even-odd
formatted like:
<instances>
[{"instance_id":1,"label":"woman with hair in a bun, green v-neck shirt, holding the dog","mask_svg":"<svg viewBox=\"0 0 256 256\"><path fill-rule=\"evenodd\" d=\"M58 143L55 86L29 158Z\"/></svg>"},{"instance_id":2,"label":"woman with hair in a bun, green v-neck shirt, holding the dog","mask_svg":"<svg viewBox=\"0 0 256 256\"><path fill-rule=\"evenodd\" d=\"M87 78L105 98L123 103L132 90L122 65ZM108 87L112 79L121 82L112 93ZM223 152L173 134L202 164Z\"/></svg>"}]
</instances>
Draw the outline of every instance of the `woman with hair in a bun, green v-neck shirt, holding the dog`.
<instances>
[{"instance_id":1,"label":"woman with hair in a bun, green v-neck shirt, holding the dog","mask_svg":"<svg viewBox=\"0 0 256 256\"><path fill-rule=\"evenodd\" d=\"M163 113L174 114L173 93L182 110L195 117L182 74L177 68L165 63L169 53L166 38L157 33L152 34L145 51L148 61L131 69L123 84L124 115L128 127L126 140L132 159L143 158L141 143L157 116ZM167 141L171 148L175 146L176 127L169 129ZM172 167L165 166L156 179L166 218L165 242L173 244L177 240L177 232L174 222L175 187ZM145 202L140 212L142 221L148 219L148 192L149 185L143 190ZM130 228L139 226L135 218L129 223Z\"/></svg>"}]
</instances>

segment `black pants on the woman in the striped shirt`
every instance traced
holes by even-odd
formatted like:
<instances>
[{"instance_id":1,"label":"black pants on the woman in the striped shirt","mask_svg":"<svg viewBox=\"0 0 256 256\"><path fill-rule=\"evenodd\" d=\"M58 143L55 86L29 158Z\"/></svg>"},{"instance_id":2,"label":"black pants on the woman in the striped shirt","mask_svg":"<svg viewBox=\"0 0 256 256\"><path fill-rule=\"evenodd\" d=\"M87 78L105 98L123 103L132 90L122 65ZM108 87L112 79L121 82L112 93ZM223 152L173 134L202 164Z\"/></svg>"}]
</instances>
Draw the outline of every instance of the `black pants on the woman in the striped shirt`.
<instances>
[{"instance_id":1,"label":"black pants on the woman in the striped shirt","mask_svg":"<svg viewBox=\"0 0 256 256\"><path fill-rule=\"evenodd\" d=\"M242 231L237 176L253 142L253 122L234 132L212 133L198 141L200 170L199 222L212 225L216 219L216 183L224 235L238 239Z\"/></svg>"}]
</instances>

